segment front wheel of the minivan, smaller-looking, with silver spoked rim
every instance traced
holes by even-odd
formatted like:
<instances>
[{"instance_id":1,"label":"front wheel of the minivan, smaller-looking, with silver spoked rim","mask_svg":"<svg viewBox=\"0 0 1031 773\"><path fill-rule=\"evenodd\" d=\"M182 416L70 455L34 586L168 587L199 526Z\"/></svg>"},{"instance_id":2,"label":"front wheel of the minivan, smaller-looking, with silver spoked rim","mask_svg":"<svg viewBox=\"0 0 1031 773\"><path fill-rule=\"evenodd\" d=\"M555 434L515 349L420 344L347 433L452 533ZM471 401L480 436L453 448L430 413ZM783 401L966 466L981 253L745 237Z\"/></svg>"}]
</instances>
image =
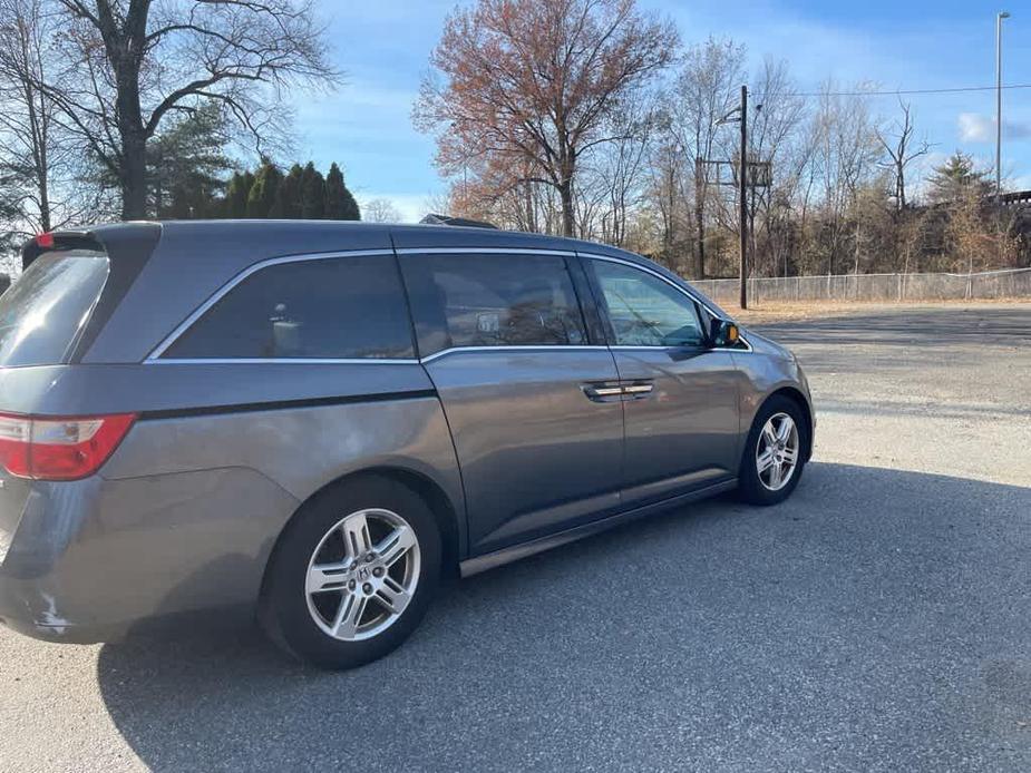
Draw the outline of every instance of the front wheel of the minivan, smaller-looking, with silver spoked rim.
<instances>
[{"instance_id":1,"label":"front wheel of the minivan, smaller-looking, with silver spoked rim","mask_svg":"<svg viewBox=\"0 0 1031 773\"><path fill-rule=\"evenodd\" d=\"M743 501L768 506L791 496L806 464L808 431L794 400L774 395L762 403L741 453L738 495Z\"/></svg>"}]
</instances>

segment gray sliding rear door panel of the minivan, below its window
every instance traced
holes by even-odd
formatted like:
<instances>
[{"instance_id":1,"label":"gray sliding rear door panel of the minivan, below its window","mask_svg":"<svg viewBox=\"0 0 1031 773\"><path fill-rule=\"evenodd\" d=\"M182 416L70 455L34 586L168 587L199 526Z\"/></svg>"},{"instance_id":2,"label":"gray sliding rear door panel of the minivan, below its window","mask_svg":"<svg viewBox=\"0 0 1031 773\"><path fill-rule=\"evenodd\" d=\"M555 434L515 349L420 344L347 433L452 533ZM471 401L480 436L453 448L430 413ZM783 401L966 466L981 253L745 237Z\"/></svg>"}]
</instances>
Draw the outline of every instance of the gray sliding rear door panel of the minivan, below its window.
<instances>
[{"instance_id":1,"label":"gray sliding rear door panel of the minivan, below its window","mask_svg":"<svg viewBox=\"0 0 1031 773\"><path fill-rule=\"evenodd\" d=\"M583 391L616 380L607 350L458 350L427 370L465 477L474 551L619 507L622 404Z\"/></svg>"}]
</instances>

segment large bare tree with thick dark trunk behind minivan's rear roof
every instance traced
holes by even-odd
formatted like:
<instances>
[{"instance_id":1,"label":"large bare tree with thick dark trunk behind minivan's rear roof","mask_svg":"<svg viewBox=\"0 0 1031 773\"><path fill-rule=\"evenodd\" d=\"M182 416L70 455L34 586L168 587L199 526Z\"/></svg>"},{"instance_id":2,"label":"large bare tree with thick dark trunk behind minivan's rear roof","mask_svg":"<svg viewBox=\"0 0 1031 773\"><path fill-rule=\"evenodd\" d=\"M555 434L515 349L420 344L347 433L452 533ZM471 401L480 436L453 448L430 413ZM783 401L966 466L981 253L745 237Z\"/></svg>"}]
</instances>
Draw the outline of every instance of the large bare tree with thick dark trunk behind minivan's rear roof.
<instances>
[{"instance_id":1,"label":"large bare tree with thick dark trunk behind minivan's rear roof","mask_svg":"<svg viewBox=\"0 0 1031 773\"><path fill-rule=\"evenodd\" d=\"M255 144L281 89L332 84L311 0L47 0L65 68L37 86L118 184L121 215L146 216L146 147L163 119L223 104Z\"/></svg>"}]
</instances>

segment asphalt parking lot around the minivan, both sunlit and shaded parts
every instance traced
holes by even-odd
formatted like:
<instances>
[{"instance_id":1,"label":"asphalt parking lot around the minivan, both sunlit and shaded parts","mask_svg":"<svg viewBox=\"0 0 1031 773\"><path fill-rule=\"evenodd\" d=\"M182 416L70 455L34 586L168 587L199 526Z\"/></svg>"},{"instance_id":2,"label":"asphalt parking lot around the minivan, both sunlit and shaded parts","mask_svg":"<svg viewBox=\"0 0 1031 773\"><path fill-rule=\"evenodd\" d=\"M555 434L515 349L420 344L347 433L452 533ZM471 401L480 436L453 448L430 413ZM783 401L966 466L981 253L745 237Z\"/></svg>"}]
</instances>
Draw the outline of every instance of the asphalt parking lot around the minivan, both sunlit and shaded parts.
<instances>
[{"instance_id":1,"label":"asphalt parking lot around the minivan, both sunlit and shaded parts","mask_svg":"<svg viewBox=\"0 0 1031 773\"><path fill-rule=\"evenodd\" d=\"M348 674L251 628L0 632L0 771L1031 770L1031 304L763 332L819 417L785 505L461 581Z\"/></svg>"}]
</instances>

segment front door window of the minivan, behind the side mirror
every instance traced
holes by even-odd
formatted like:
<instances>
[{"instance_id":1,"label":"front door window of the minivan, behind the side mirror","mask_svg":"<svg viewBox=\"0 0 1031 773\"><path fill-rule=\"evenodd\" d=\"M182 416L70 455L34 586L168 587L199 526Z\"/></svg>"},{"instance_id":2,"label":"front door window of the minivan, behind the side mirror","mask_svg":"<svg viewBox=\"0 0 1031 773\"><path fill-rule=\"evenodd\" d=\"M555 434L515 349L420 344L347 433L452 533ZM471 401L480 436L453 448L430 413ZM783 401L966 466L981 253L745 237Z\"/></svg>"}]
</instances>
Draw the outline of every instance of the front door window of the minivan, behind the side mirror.
<instances>
[{"instance_id":1,"label":"front door window of the minivan, behind the side mirror","mask_svg":"<svg viewBox=\"0 0 1031 773\"><path fill-rule=\"evenodd\" d=\"M621 346L699 346L704 336L694 303L648 272L592 261Z\"/></svg>"}]
</instances>

